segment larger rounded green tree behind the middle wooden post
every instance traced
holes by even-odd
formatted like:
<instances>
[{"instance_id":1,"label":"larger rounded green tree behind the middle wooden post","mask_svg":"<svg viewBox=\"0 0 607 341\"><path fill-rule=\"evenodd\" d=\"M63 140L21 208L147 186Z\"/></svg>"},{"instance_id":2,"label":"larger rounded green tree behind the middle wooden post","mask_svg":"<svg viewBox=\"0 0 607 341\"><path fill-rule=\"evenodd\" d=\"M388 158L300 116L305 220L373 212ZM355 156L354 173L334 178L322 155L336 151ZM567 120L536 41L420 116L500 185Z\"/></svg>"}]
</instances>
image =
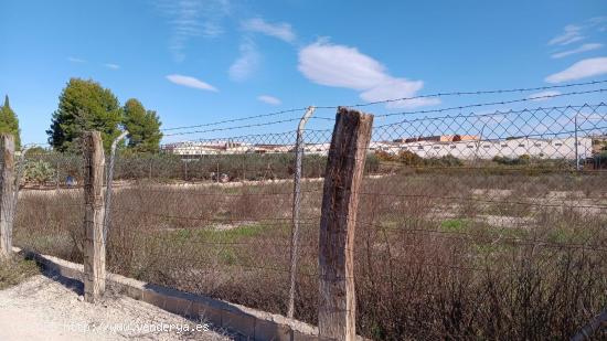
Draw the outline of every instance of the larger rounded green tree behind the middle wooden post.
<instances>
[{"instance_id":1,"label":"larger rounded green tree behind the middle wooden post","mask_svg":"<svg viewBox=\"0 0 607 341\"><path fill-rule=\"evenodd\" d=\"M49 143L58 151L76 150L83 131L98 130L107 151L121 121L123 108L111 90L92 79L71 78L46 130Z\"/></svg>"}]
</instances>

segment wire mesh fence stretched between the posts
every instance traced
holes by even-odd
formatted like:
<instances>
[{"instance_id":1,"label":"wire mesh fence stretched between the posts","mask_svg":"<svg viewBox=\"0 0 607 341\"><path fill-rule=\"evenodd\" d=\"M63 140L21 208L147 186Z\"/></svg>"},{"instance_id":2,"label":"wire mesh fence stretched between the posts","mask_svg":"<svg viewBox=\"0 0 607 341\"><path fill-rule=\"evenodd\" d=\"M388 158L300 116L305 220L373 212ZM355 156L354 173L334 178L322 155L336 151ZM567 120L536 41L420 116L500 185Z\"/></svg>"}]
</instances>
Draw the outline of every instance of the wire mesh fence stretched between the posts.
<instances>
[{"instance_id":1,"label":"wire mesh fence stretched between the posts","mask_svg":"<svg viewBox=\"0 0 607 341\"><path fill-rule=\"evenodd\" d=\"M607 105L483 106L375 116L355 193L361 334L562 339L607 305ZM317 107L303 131L295 317L312 323L334 109ZM183 140L160 153L119 150L108 270L285 313L303 110L169 128ZM32 149L22 167L15 244L82 262L82 156Z\"/></svg>"}]
</instances>

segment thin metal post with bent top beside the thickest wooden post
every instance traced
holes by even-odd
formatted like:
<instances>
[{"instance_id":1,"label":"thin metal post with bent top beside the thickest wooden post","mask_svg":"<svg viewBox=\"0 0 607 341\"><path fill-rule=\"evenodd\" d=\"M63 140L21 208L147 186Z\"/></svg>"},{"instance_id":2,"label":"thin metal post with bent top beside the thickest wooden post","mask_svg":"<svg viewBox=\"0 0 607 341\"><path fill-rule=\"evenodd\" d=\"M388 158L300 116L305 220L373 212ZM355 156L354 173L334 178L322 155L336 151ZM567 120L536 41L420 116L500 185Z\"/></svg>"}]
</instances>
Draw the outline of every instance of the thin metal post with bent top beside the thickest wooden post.
<instances>
[{"instance_id":1,"label":"thin metal post with bent top beside the thickest wooden post","mask_svg":"<svg viewBox=\"0 0 607 341\"><path fill-rule=\"evenodd\" d=\"M297 126L297 139L295 141L295 184L292 194L292 230L291 230L291 267L289 301L287 303L287 317L292 318L295 312L295 284L297 278L297 262L299 253L299 211L301 209L301 160L303 158L303 128L308 119L313 115L315 107L310 106L299 120Z\"/></svg>"}]
</instances>

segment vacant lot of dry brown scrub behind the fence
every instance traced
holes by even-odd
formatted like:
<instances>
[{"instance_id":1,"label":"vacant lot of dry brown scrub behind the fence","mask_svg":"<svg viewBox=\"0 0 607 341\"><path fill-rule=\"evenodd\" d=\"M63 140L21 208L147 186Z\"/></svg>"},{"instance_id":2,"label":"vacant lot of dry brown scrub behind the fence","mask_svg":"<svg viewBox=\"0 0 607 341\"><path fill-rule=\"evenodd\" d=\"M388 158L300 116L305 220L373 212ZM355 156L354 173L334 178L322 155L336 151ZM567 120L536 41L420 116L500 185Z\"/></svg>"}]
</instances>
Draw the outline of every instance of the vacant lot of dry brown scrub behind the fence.
<instances>
[{"instance_id":1,"label":"vacant lot of dry brown scrub behind the fence","mask_svg":"<svg viewBox=\"0 0 607 341\"><path fill-rule=\"evenodd\" d=\"M607 174L415 171L368 178L359 332L566 339L607 305ZM303 184L296 317L316 323L321 182ZM111 271L285 313L292 183L117 191ZM79 191L22 193L15 243L82 262ZM601 335L598 335L599 338Z\"/></svg>"}]
</instances>

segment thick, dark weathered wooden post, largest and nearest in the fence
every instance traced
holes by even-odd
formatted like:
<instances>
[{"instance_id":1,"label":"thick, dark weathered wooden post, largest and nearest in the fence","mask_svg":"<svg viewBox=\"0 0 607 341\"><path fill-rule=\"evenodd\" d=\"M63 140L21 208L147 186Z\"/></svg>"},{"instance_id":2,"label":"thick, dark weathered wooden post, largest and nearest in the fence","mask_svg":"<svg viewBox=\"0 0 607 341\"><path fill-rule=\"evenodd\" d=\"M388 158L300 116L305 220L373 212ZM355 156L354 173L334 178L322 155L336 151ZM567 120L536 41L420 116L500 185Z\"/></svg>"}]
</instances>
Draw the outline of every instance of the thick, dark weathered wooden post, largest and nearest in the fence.
<instances>
[{"instance_id":1,"label":"thick, dark weathered wooden post, largest and nearest in the fence","mask_svg":"<svg viewBox=\"0 0 607 341\"><path fill-rule=\"evenodd\" d=\"M338 108L320 217L318 328L321 340L356 338L354 227L372 125L372 115Z\"/></svg>"}]
</instances>

